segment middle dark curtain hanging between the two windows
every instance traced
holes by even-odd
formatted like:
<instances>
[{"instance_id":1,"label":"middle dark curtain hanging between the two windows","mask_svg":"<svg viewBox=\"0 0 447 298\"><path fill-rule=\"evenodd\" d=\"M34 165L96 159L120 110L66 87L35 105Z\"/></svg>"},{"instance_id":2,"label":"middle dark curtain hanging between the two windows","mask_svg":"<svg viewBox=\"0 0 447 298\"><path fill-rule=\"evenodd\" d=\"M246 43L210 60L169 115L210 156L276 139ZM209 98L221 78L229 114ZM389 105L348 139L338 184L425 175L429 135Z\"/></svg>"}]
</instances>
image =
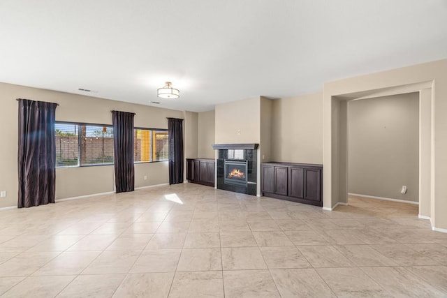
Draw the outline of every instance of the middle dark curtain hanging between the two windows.
<instances>
[{"instance_id":1,"label":"middle dark curtain hanging between the two windows","mask_svg":"<svg viewBox=\"0 0 447 298\"><path fill-rule=\"evenodd\" d=\"M115 188L117 193L134 191L133 117L128 112L112 111Z\"/></svg>"}]
</instances>

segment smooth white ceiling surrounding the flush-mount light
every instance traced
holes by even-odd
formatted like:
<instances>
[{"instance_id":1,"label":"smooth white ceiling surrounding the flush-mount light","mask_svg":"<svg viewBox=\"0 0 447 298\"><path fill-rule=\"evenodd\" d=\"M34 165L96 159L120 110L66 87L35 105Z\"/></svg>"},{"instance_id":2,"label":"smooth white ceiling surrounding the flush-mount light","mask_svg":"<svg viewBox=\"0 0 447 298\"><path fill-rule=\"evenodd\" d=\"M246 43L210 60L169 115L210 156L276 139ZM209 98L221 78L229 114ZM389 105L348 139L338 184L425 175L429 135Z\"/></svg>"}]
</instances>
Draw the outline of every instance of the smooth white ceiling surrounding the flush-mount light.
<instances>
[{"instance_id":1,"label":"smooth white ceiling surrounding the flush-mount light","mask_svg":"<svg viewBox=\"0 0 447 298\"><path fill-rule=\"evenodd\" d=\"M0 1L0 82L175 110L444 58L446 0Z\"/></svg>"}]
</instances>

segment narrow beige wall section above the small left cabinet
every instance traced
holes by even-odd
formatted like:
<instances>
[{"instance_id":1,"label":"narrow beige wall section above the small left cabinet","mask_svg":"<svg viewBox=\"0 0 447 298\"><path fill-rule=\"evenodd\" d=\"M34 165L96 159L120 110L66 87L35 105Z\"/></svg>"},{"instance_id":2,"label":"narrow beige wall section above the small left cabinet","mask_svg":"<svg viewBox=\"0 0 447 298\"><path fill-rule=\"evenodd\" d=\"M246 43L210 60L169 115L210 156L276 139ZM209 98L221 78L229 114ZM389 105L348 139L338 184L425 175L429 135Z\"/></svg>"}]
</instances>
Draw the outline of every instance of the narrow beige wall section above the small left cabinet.
<instances>
[{"instance_id":1,"label":"narrow beige wall section above the small left cabinet","mask_svg":"<svg viewBox=\"0 0 447 298\"><path fill-rule=\"evenodd\" d=\"M214 158L214 110L198 113L198 157Z\"/></svg>"}]
</instances>

